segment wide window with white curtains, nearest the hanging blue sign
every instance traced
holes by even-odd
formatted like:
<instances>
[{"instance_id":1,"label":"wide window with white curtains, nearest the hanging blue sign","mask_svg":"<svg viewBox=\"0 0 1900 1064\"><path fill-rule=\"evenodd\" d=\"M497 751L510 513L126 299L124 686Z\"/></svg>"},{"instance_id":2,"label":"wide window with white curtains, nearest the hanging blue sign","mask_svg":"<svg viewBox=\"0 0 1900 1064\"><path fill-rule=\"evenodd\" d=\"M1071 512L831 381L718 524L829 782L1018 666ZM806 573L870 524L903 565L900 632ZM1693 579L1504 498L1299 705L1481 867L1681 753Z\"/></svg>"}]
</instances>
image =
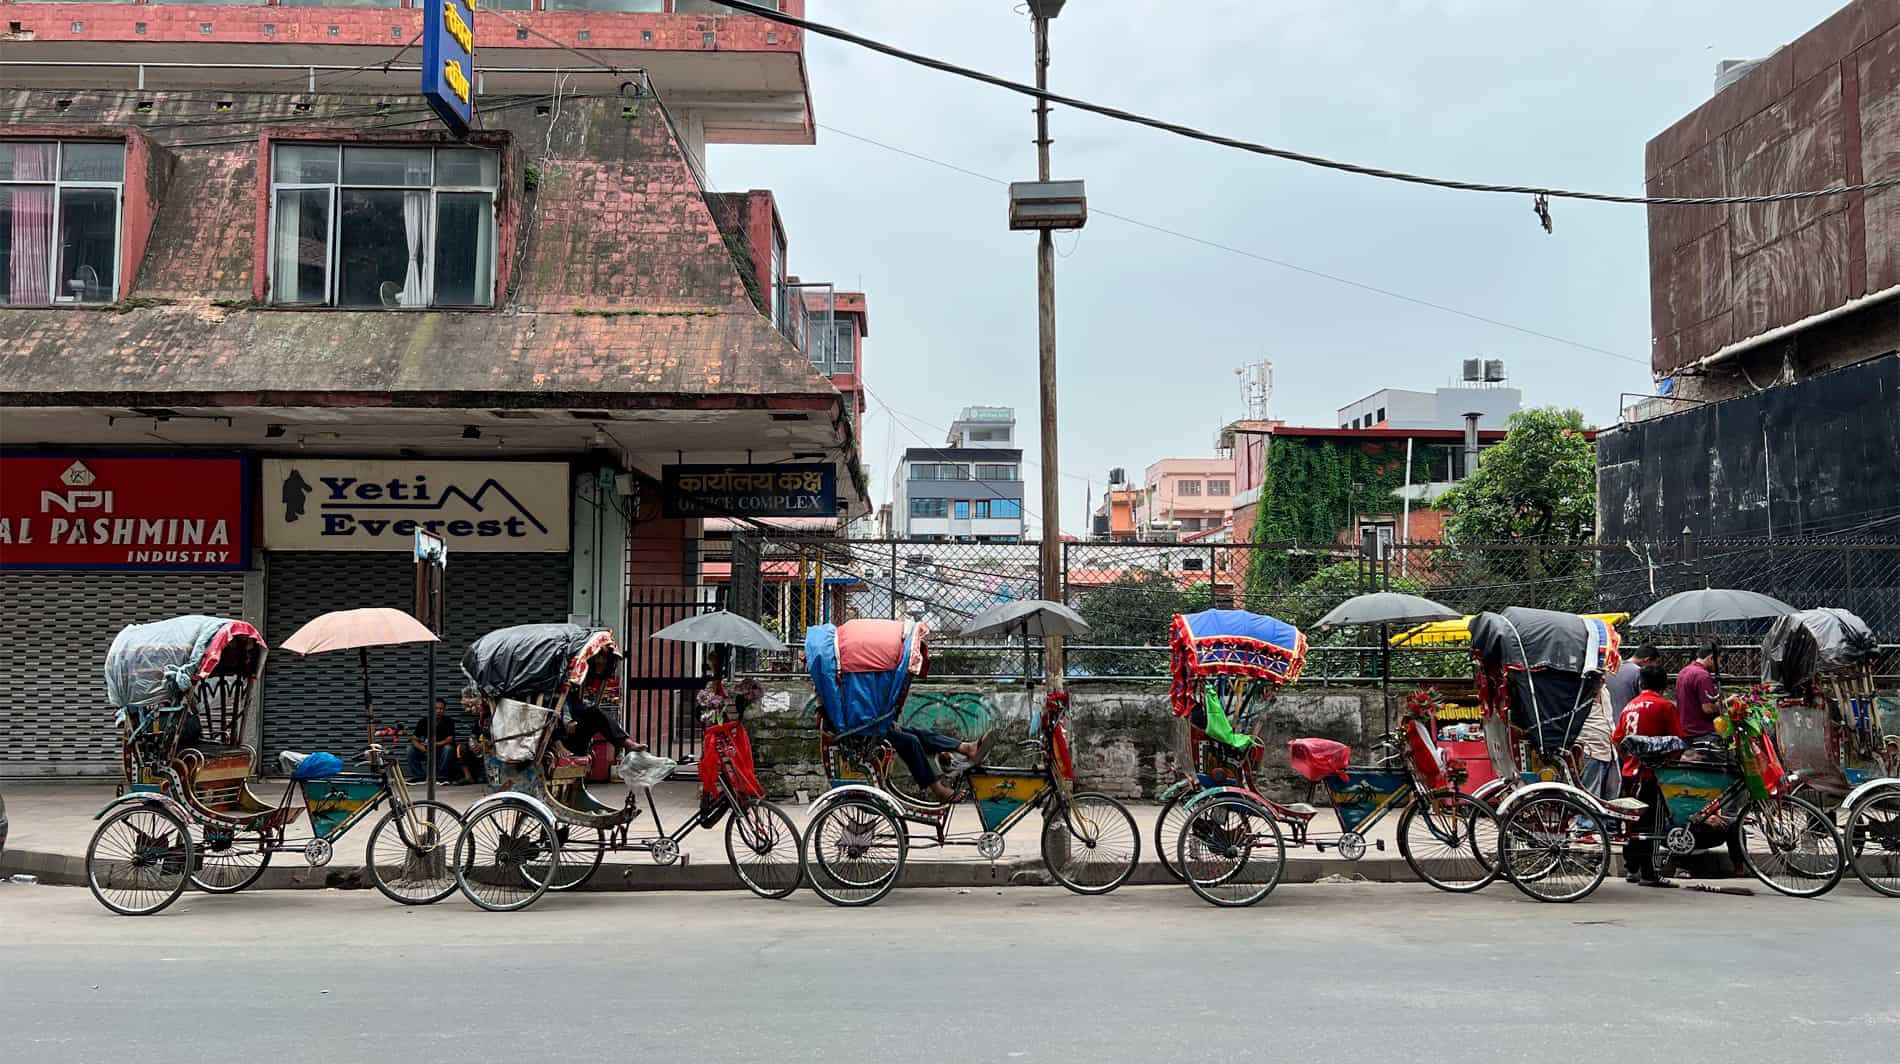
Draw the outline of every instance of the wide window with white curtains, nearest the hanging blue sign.
<instances>
[{"instance_id":1,"label":"wide window with white curtains, nearest the hanging blue sign","mask_svg":"<svg viewBox=\"0 0 1900 1064\"><path fill-rule=\"evenodd\" d=\"M270 300L488 306L500 156L479 148L277 144Z\"/></svg>"}]
</instances>

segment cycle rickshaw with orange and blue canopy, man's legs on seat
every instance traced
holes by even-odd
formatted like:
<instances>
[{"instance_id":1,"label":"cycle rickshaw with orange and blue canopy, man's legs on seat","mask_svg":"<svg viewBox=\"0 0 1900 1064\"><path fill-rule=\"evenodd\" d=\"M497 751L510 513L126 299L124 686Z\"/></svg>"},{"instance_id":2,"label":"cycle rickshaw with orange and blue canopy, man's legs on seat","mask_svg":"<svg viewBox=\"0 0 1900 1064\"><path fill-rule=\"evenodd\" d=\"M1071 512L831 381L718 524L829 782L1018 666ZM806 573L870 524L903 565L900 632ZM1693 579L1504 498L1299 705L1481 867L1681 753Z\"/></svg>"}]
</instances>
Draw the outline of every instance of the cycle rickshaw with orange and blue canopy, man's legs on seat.
<instances>
[{"instance_id":1,"label":"cycle rickshaw with orange and blue canopy, man's legs on seat","mask_svg":"<svg viewBox=\"0 0 1900 1064\"><path fill-rule=\"evenodd\" d=\"M857 619L806 631L806 667L821 707L819 754L832 785L806 823L811 889L832 904L872 904L897 885L912 846L969 846L996 861L1005 836L1037 809L1043 864L1058 884L1081 895L1125 884L1140 859L1140 830L1121 802L1075 792L1066 695L1049 695L1030 722L1030 768L971 766L948 781L950 802L893 783L897 750L887 737L901 726L910 680L925 674L925 638L918 621ZM977 806L980 830L952 830L963 802Z\"/></svg>"}]
</instances>

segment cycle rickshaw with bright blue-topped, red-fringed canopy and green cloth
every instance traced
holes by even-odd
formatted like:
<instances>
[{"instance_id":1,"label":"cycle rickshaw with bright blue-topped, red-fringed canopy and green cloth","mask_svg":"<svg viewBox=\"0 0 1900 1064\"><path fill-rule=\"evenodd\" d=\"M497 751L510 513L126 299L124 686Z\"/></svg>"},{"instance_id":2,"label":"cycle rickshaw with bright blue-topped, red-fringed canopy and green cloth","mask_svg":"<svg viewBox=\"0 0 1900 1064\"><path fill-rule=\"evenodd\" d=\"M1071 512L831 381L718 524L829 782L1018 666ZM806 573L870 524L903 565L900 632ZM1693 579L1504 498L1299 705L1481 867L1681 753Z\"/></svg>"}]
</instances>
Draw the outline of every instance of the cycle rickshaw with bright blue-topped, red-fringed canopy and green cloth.
<instances>
[{"instance_id":1,"label":"cycle rickshaw with bright blue-topped, red-fringed canopy and green cloth","mask_svg":"<svg viewBox=\"0 0 1900 1064\"><path fill-rule=\"evenodd\" d=\"M1490 809L1459 794L1455 773L1433 741L1429 714L1410 711L1400 732L1383 735L1372 766L1351 766L1351 749L1330 739L1294 739L1292 768L1324 787L1338 832L1315 832L1319 809L1282 804L1254 783L1264 760L1260 722L1273 695L1300 678L1305 635L1294 625L1244 610L1206 610L1174 618L1172 709L1189 722L1195 747L1191 794L1170 794L1180 809L1172 872L1218 906L1265 899L1286 868L1286 846L1336 849L1358 861L1383 840L1368 840L1398 811L1398 851L1427 884L1454 893L1478 891L1497 878L1484 851L1495 836ZM1237 707L1229 718L1227 705ZM1239 722L1239 728L1235 724ZM1165 806L1157 834L1168 830Z\"/></svg>"}]
</instances>

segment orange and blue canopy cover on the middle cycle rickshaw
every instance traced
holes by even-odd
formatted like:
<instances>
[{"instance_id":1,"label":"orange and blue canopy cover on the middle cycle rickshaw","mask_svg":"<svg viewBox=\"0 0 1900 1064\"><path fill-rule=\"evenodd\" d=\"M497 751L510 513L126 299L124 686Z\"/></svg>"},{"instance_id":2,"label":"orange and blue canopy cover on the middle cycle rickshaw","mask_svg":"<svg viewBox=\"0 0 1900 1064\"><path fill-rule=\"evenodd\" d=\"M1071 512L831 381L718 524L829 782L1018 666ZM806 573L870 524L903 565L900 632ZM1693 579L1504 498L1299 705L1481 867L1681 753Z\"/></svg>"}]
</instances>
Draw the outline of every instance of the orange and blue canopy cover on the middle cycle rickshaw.
<instances>
[{"instance_id":1,"label":"orange and blue canopy cover on the middle cycle rickshaw","mask_svg":"<svg viewBox=\"0 0 1900 1064\"><path fill-rule=\"evenodd\" d=\"M832 735L880 735L897 718L910 676L927 663L929 629L857 619L806 629L806 669Z\"/></svg>"}]
</instances>

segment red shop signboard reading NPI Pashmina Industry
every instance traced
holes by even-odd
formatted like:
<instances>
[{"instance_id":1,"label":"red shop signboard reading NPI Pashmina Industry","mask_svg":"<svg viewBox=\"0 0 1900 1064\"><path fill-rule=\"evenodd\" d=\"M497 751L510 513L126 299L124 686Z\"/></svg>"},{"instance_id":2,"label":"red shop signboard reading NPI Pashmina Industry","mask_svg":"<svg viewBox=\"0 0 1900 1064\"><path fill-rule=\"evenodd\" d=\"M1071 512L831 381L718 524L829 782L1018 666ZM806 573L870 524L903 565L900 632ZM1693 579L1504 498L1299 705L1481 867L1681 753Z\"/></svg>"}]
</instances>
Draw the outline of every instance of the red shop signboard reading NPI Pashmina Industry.
<instances>
[{"instance_id":1,"label":"red shop signboard reading NPI Pashmina Industry","mask_svg":"<svg viewBox=\"0 0 1900 1064\"><path fill-rule=\"evenodd\" d=\"M0 568L243 570L236 454L0 456Z\"/></svg>"}]
</instances>

